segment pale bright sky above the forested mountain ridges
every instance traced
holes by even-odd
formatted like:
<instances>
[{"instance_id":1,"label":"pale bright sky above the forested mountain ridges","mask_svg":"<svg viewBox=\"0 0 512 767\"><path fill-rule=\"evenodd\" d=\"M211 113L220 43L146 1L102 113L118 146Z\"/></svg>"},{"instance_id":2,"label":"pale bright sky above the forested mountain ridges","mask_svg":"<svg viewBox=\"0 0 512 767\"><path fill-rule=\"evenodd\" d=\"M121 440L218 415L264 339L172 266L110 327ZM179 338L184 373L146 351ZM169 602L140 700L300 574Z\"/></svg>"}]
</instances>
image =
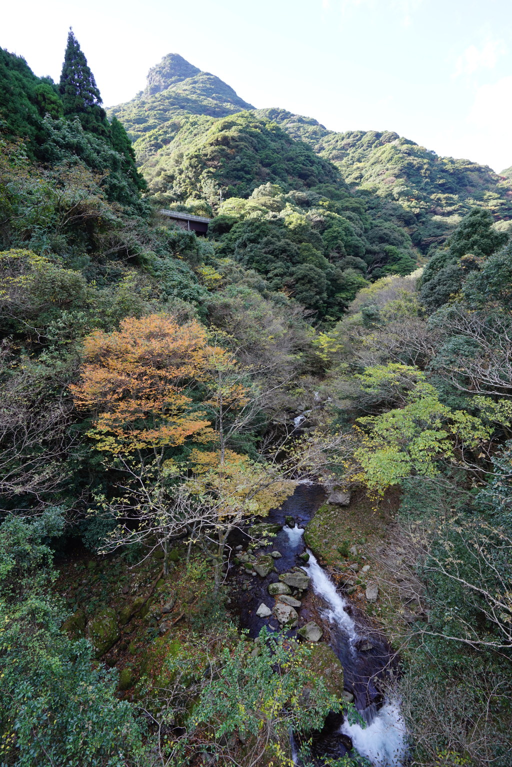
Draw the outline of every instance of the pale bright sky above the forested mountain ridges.
<instances>
[{"instance_id":1,"label":"pale bright sky above the forested mountain ridges","mask_svg":"<svg viewBox=\"0 0 512 767\"><path fill-rule=\"evenodd\" d=\"M179 53L255 107L512 165L510 0L18 0L0 47L58 81L70 26L107 107Z\"/></svg>"}]
</instances>

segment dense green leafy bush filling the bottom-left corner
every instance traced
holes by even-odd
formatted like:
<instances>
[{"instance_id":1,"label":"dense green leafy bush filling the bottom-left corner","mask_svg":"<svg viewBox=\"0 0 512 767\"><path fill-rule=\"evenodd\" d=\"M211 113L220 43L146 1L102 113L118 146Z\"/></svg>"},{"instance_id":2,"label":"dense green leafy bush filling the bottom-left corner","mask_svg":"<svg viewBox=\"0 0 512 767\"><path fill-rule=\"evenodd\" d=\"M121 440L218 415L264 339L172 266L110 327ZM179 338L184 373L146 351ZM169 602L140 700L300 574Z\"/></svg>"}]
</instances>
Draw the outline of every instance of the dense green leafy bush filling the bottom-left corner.
<instances>
[{"instance_id":1,"label":"dense green leafy bush filling the bottom-left corner","mask_svg":"<svg viewBox=\"0 0 512 767\"><path fill-rule=\"evenodd\" d=\"M93 668L87 640L61 630L65 614L50 595L48 541L63 528L58 509L0 528L0 760L124 767L141 750L133 709L117 700L115 671Z\"/></svg>"}]
</instances>

